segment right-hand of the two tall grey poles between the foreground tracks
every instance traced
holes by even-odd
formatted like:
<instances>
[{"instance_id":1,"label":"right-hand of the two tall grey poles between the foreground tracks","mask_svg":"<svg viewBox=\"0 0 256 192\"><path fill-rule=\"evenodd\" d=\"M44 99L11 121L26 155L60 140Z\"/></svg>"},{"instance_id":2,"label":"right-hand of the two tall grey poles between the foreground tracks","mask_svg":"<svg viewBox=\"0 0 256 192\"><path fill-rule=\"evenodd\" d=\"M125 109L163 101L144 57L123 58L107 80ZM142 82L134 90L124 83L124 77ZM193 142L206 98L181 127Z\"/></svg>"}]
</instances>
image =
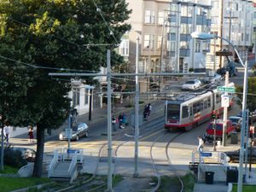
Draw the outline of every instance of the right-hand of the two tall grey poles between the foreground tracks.
<instances>
[{"instance_id":1,"label":"right-hand of the two tall grey poles between the foreground tracks","mask_svg":"<svg viewBox=\"0 0 256 192\"><path fill-rule=\"evenodd\" d=\"M137 37L137 44L136 44L136 67L135 73L137 73L138 67L138 46L139 46L139 38ZM138 177L138 139L139 139L139 83L138 83L138 76L135 76L135 84L136 84L136 92L135 92L135 150L134 150L134 173L133 177Z\"/></svg>"}]
</instances>

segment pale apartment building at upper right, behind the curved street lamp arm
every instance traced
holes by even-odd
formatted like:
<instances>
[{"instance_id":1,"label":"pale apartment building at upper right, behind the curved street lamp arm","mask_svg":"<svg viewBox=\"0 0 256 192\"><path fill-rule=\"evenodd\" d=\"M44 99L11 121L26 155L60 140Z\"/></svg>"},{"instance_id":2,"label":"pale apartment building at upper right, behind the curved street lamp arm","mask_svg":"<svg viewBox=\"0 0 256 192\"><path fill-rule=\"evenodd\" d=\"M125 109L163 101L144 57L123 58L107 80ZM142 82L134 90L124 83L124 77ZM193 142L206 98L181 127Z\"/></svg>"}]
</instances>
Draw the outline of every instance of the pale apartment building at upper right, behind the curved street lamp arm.
<instances>
[{"instance_id":1,"label":"pale apartment building at upper right, behind the curved street lamp arm","mask_svg":"<svg viewBox=\"0 0 256 192\"><path fill-rule=\"evenodd\" d=\"M211 32L218 37L230 41L243 61L252 56L253 38L253 2L247 0L212 0ZM211 52L207 53L207 68L224 67L224 56L214 53L222 49L230 49L229 44L218 38L211 40Z\"/></svg>"}]
</instances>

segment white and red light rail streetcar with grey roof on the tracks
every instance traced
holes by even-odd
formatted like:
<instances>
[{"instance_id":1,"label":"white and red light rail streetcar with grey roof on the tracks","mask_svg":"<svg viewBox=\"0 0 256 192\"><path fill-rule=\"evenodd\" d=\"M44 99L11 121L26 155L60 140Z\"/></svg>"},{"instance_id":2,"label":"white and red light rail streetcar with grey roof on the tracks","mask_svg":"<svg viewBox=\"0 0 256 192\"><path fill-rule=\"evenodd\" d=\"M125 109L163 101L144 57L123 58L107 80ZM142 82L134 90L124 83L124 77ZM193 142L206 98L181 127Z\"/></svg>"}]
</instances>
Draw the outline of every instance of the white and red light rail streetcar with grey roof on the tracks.
<instances>
[{"instance_id":1,"label":"white and red light rail streetcar with grey roof on the tracks","mask_svg":"<svg viewBox=\"0 0 256 192\"><path fill-rule=\"evenodd\" d=\"M234 83L228 87L234 87ZM165 103L165 129L190 129L200 125L212 118L213 110L223 113L221 107L221 95L217 86L201 92L189 92L175 96ZM233 105L233 96L230 96L230 108Z\"/></svg>"}]
</instances>

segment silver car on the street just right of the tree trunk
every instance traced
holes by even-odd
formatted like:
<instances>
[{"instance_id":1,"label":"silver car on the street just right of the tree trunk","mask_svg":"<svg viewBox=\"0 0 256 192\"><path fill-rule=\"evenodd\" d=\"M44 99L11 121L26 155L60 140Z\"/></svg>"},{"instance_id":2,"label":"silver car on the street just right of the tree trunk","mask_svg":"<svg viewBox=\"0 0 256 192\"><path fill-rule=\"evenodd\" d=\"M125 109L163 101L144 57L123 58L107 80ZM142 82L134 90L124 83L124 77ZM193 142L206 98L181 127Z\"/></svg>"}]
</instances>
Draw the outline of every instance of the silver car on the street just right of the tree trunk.
<instances>
[{"instance_id":1,"label":"silver car on the street just right of the tree trunk","mask_svg":"<svg viewBox=\"0 0 256 192\"><path fill-rule=\"evenodd\" d=\"M72 127L72 137L71 141L79 141L79 138L81 137L88 137L88 125L85 123L80 123L79 125ZM65 136L65 132L61 132L59 135L60 140L68 140L68 138Z\"/></svg>"}]
</instances>

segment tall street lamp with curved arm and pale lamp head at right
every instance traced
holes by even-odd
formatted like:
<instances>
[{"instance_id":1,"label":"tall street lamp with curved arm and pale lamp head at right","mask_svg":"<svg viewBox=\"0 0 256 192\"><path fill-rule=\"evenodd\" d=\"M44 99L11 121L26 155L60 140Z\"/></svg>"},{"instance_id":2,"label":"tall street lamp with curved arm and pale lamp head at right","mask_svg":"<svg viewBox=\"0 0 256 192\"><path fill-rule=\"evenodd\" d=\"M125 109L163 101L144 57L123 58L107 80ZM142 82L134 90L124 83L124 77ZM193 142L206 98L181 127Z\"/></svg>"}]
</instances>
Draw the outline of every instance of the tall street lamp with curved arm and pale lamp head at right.
<instances>
[{"instance_id":1,"label":"tall street lamp with curved arm and pale lamp head at right","mask_svg":"<svg viewBox=\"0 0 256 192\"><path fill-rule=\"evenodd\" d=\"M236 50L234 44L231 44L231 42L226 38L222 38L206 32L192 32L191 37L201 39L201 40L214 39L214 38L223 39L232 47L232 49L234 49L242 67L245 68L244 79L243 79L243 93L242 93L243 95L242 95L241 145L240 145L239 176L238 176L238 187L237 187L237 192L241 192L242 191L242 175L243 175L244 136L245 136L245 126L246 126L245 119L246 119L246 108L247 108L247 61L245 62L245 64L243 63L243 61L241 61L241 57L238 54L238 51Z\"/></svg>"}]
</instances>

